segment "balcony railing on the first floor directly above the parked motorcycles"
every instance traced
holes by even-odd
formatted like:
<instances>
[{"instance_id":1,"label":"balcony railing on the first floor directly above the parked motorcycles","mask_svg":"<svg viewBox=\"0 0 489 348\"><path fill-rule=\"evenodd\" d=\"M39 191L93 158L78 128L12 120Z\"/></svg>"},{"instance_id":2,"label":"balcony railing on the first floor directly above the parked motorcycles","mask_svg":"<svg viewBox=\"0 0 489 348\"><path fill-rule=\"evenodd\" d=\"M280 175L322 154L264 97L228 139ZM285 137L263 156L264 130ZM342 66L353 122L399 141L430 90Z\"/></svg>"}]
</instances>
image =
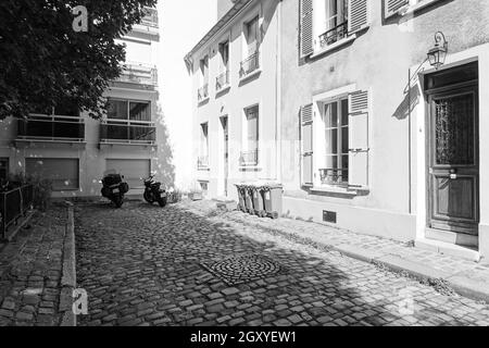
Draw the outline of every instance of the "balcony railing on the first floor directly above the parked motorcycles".
<instances>
[{"instance_id":1,"label":"balcony railing on the first floor directly above the parked motorcycles","mask_svg":"<svg viewBox=\"0 0 489 348\"><path fill-rule=\"evenodd\" d=\"M100 125L100 142L153 145L156 141L156 127L139 122L106 121Z\"/></svg>"}]
</instances>

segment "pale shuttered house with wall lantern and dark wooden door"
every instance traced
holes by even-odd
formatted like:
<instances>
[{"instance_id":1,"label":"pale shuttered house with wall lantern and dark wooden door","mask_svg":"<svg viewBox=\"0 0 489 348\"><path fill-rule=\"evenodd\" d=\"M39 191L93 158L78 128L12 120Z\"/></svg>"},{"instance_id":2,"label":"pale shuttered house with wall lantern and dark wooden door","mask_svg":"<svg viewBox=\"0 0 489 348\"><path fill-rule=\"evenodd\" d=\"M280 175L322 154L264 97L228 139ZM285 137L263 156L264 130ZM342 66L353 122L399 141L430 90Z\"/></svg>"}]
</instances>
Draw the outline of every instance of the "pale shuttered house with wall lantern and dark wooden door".
<instances>
[{"instance_id":1,"label":"pale shuttered house with wall lantern and dark wooden door","mask_svg":"<svg viewBox=\"0 0 489 348\"><path fill-rule=\"evenodd\" d=\"M489 257L489 3L281 3L286 212Z\"/></svg>"}]
</instances>

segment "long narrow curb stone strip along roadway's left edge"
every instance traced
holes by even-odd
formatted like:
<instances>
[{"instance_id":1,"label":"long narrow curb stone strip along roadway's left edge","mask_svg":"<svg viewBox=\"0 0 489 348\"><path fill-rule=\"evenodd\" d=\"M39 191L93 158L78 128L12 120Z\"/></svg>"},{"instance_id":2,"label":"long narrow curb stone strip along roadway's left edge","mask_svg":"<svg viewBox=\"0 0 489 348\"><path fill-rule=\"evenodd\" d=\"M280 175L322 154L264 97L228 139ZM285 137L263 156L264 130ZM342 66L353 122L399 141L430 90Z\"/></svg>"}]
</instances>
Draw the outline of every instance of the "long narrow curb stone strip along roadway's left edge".
<instances>
[{"instance_id":1,"label":"long narrow curb stone strip along roadway's left edge","mask_svg":"<svg viewBox=\"0 0 489 348\"><path fill-rule=\"evenodd\" d=\"M73 290L76 288L75 219L73 203L66 202L66 206L67 223L63 246L60 313L62 314L61 326L76 326L76 316L73 313Z\"/></svg>"}]
</instances>

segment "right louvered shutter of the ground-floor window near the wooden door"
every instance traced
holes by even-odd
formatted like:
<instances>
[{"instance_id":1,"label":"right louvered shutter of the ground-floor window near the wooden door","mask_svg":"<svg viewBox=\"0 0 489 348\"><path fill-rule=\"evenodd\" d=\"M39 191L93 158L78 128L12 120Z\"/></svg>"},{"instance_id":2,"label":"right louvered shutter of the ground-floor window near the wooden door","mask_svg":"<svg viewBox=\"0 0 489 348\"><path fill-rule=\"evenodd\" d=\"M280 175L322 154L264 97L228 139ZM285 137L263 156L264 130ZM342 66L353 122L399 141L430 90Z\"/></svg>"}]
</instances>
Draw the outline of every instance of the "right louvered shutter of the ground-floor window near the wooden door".
<instances>
[{"instance_id":1,"label":"right louvered shutter of the ground-floor window near the wooden door","mask_svg":"<svg viewBox=\"0 0 489 348\"><path fill-rule=\"evenodd\" d=\"M368 91L355 91L349 98L349 185L368 187Z\"/></svg>"}]
</instances>

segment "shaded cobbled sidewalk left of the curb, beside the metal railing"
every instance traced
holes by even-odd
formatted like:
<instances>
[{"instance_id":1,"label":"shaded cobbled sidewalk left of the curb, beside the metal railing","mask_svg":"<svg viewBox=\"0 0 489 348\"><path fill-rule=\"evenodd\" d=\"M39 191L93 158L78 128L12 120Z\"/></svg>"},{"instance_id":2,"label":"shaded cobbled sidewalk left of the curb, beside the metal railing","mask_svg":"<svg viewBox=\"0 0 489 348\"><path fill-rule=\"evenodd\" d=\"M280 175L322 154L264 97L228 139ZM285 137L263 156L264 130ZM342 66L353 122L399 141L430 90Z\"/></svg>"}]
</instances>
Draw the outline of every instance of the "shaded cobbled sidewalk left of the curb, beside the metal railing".
<instances>
[{"instance_id":1,"label":"shaded cobbled sidewalk left of the curb, beside the metal railing","mask_svg":"<svg viewBox=\"0 0 489 348\"><path fill-rule=\"evenodd\" d=\"M37 213L0 249L0 326L60 324L64 208Z\"/></svg>"}]
</instances>

